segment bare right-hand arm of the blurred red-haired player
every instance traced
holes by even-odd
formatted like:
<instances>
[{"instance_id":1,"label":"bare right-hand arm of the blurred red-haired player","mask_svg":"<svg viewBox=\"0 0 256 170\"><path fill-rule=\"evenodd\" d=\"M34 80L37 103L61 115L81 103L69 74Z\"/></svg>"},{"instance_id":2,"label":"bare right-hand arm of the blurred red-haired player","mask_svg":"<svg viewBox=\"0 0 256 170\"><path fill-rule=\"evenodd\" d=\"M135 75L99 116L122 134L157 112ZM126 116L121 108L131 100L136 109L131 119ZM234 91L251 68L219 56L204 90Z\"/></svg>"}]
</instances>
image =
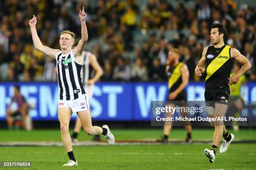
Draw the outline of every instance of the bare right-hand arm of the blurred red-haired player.
<instances>
[{"instance_id":1,"label":"bare right-hand arm of the blurred red-haired player","mask_svg":"<svg viewBox=\"0 0 256 170\"><path fill-rule=\"evenodd\" d=\"M182 92L182 90L184 90L184 88L187 86L188 82L189 82L189 70L187 68L187 65L184 64L180 67L180 71L182 73L182 83L179 85L179 87L174 90L173 92L171 92L169 94L169 100L174 100L177 95Z\"/></svg>"}]
</instances>

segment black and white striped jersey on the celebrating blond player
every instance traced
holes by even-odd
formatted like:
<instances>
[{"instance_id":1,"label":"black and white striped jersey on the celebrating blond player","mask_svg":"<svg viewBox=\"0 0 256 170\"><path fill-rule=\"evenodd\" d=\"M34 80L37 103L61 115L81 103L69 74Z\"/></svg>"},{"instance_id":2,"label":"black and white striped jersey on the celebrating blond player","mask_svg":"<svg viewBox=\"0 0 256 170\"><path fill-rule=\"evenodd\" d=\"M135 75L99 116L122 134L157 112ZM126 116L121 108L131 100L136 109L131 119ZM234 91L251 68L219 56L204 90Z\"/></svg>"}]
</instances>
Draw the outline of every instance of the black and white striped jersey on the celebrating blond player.
<instances>
[{"instance_id":1,"label":"black and white striped jersey on the celebrating blond player","mask_svg":"<svg viewBox=\"0 0 256 170\"><path fill-rule=\"evenodd\" d=\"M72 51L66 55L60 51L56 55L60 100L75 100L85 94L81 78L82 65L77 63Z\"/></svg>"}]
</instances>

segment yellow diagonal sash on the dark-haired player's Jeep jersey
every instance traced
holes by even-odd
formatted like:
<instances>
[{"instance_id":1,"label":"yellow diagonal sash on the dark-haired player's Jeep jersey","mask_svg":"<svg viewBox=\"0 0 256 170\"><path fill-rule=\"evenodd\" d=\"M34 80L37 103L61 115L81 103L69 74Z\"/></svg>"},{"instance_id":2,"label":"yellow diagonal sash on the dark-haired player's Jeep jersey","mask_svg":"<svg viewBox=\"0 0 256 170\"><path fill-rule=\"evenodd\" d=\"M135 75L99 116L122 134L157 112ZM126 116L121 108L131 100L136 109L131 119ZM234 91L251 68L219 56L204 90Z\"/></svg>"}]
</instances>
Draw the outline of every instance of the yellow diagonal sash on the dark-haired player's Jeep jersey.
<instances>
[{"instance_id":1,"label":"yellow diagonal sash on the dark-haired player's Jeep jersey","mask_svg":"<svg viewBox=\"0 0 256 170\"><path fill-rule=\"evenodd\" d=\"M225 62L229 60L229 49L230 46L226 45L220 54L214 60L212 60L212 62L210 62L206 70L207 76L205 81L208 80L213 75L213 73L215 73L223 64L225 64Z\"/></svg>"}]
</instances>

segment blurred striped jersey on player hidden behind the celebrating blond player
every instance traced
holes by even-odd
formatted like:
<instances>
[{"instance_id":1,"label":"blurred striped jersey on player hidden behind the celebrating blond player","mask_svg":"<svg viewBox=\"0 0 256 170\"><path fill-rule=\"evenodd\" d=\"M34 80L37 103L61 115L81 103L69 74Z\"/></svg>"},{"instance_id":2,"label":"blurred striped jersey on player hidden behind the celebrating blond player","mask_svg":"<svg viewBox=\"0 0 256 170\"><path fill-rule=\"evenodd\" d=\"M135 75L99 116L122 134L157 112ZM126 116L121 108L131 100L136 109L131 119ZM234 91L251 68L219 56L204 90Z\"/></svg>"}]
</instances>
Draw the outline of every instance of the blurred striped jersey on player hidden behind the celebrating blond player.
<instances>
[{"instance_id":1,"label":"blurred striped jersey on player hidden behind the celebrating blond player","mask_svg":"<svg viewBox=\"0 0 256 170\"><path fill-rule=\"evenodd\" d=\"M91 52L85 51L85 54L82 56L83 66L82 66L82 80L84 85L87 84L87 81L94 77L95 71L90 64L89 56L92 55Z\"/></svg>"}]
</instances>

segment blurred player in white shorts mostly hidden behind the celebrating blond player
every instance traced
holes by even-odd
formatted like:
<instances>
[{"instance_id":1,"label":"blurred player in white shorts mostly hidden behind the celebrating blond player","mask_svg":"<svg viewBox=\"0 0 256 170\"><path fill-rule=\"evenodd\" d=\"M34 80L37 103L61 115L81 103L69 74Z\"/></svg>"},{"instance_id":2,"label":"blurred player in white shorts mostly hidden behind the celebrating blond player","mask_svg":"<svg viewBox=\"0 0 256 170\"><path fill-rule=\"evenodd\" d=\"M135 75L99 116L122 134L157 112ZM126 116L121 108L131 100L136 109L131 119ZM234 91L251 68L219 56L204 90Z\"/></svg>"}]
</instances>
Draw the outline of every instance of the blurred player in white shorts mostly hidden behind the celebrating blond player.
<instances>
[{"instance_id":1,"label":"blurred player in white shorts mostly hidden behind the celebrating blond player","mask_svg":"<svg viewBox=\"0 0 256 170\"><path fill-rule=\"evenodd\" d=\"M83 51L82 60L83 66L81 71L81 77L84 83L85 92L90 101L93 95L94 84L100 79L101 75L103 74L103 71L97 61L96 56L91 52ZM77 116L74 132L71 137L73 142L77 142L77 135L80 132L81 128L82 124L79 117ZM94 138L92 138L92 140L100 141L100 135L95 135Z\"/></svg>"}]
</instances>

